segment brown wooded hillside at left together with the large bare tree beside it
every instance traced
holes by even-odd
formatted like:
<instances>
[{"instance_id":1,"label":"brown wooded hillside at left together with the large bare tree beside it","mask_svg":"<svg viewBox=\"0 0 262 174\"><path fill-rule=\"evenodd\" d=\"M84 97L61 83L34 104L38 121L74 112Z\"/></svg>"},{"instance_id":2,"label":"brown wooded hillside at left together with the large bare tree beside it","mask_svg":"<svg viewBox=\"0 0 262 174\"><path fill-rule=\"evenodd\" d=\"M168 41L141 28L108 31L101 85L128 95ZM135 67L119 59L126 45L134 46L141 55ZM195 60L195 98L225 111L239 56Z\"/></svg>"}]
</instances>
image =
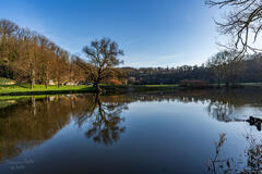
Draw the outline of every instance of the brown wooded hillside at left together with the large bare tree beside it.
<instances>
[{"instance_id":1,"label":"brown wooded hillside at left together with the large bare tree beside it","mask_svg":"<svg viewBox=\"0 0 262 174\"><path fill-rule=\"evenodd\" d=\"M79 85L124 82L124 73L115 66L122 51L110 39L94 40L83 48L88 61L70 54L47 37L0 20L0 76L19 84ZM119 82L121 80L121 82Z\"/></svg>"}]
</instances>

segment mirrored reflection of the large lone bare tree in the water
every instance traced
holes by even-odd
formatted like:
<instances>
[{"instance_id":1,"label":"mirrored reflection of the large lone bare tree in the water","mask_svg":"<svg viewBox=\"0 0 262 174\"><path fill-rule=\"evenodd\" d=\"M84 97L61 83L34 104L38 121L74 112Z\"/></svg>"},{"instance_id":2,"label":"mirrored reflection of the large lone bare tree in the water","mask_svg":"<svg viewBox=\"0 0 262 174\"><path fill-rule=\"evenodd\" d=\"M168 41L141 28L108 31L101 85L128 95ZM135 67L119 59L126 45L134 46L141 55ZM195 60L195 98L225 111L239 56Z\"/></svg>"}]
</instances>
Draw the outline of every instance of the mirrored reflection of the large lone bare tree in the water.
<instances>
[{"instance_id":1,"label":"mirrored reflection of the large lone bare tree in the water","mask_svg":"<svg viewBox=\"0 0 262 174\"><path fill-rule=\"evenodd\" d=\"M126 129L120 126L120 123L124 121L121 113L127 105L119 102L102 102L98 94L93 97L93 100L91 112L80 116L78 123L80 126L84 123L88 124L85 134L87 138L92 138L95 142L111 145Z\"/></svg>"}]
</instances>

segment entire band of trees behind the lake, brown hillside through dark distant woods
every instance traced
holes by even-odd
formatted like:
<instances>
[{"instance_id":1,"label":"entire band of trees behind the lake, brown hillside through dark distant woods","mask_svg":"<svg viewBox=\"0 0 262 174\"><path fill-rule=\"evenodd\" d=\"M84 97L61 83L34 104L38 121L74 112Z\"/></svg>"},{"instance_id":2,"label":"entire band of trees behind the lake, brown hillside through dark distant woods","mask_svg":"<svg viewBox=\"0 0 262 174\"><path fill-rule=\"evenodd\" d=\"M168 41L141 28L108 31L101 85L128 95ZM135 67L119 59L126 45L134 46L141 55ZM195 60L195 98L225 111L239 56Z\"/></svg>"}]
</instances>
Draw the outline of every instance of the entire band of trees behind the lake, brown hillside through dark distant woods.
<instances>
[{"instance_id":1,"label":"entire band of trees behind the lake, brown hillside through dark distant woods","mask_svg":"<svg viewBox=\"0 0 262 174\"><path fill-rule=\"evenodd\" d=\"M177 67L120 66L123 51L109 38L85 46L86 58L71 54L47 37L0 20L0 76L17 84L48 85L158 85L181 80L210 84L262 82L261 53L238 55L234 50L221 51L202 65ZM198 59L198 58L195 58Z\"/></svg>"}]
</instances>

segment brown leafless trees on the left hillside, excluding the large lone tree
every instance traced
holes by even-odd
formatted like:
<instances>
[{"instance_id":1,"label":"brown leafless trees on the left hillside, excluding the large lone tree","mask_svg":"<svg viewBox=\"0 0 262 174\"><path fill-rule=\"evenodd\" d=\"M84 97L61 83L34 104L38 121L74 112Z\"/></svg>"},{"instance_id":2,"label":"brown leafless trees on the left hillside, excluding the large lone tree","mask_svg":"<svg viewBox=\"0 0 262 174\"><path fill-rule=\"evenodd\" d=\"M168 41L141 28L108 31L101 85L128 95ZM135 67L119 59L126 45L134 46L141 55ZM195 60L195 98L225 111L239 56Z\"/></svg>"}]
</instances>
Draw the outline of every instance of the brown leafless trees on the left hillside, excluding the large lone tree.
<instances>
[{"instance_id":1,"label":"brown leafless trees on the left hillside, excluding the large lone tree","mask_svg":"<svg viewBox=\"0 0 262 174\"><path fill-rule=\"evenodd\" d=\"M59 86L64 80L85 80L85 74L75 63L76 57L61 49L45 36L0 21L0 76L16 83Z\"/></svg>"}]
</instances>

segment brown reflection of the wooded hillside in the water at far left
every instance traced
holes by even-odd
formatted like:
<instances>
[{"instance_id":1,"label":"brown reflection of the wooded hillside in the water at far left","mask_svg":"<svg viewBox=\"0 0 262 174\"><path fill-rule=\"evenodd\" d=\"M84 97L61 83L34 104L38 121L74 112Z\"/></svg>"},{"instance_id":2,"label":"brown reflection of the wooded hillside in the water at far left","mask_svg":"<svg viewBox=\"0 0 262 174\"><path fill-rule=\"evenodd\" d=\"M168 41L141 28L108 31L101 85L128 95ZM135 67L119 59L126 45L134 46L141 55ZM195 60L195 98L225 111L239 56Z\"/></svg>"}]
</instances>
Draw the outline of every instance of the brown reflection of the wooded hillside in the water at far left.
<instances>
[{"instance_id":1,"label":"brown reflection of the wooded hillside in the water at far left","mask_svg":"<svg viewBox=\"0 0 262 174\"><path fill-rule=\"evenodd\" d=\"M50 139L69 123L67 101L23 100L0 110L0 161ZM60 110L63 108L63 110Z\"/></svg>"}]
</instances>

